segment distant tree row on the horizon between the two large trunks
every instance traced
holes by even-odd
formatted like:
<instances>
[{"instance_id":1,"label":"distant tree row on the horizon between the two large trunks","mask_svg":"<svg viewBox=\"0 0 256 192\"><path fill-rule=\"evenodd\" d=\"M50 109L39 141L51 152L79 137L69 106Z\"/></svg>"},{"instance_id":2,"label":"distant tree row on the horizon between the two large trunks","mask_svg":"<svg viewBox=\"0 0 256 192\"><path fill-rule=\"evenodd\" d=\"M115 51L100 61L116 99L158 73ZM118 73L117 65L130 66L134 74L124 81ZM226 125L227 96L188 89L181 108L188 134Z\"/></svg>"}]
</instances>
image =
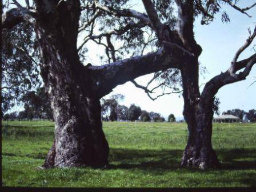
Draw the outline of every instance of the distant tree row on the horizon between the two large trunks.
<instances>
[{"instance_id":1,"label":"distant tree row on the horizon between the two large trunks","mask_svg":"<svg viewBox=\"0 0 256 192\"><path fill-rule=\"evenodd\" d=\"M131 104L130 107L119 105L124 99L124 95L115 94L109 99L103 99L102 119L103 121L142 121L142 122L164 122L165 118L154 111L148 112L141 110L141 107ZM173 114L169 115L169 122L175 122Z\"/></svg>"}]
</instances>

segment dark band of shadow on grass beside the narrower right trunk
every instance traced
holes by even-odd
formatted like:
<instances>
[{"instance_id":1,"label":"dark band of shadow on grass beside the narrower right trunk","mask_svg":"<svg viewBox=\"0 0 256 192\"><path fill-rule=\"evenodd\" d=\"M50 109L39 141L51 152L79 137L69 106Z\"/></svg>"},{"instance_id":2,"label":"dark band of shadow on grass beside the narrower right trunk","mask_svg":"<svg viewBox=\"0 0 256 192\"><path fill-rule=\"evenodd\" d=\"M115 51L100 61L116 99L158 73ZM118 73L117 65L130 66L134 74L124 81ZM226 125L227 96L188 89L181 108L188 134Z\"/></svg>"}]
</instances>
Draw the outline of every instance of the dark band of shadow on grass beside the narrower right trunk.
<instances>
[{"instance_id":1,"label":"dark band of shadow on grass beside the narrower right trunk","mask_svg":"<svg viewBox=\"0 0 256 192\"><path fill-rule=\"evenodd\" d=\"M183 150L135 150L111 149L109 169L142 169L151 171L168 171L181 168ZM218 170L256 169L256 149L217 150L222 162ZM116 165L114 162L118 162Z\"/></svg>"}]
</instances>

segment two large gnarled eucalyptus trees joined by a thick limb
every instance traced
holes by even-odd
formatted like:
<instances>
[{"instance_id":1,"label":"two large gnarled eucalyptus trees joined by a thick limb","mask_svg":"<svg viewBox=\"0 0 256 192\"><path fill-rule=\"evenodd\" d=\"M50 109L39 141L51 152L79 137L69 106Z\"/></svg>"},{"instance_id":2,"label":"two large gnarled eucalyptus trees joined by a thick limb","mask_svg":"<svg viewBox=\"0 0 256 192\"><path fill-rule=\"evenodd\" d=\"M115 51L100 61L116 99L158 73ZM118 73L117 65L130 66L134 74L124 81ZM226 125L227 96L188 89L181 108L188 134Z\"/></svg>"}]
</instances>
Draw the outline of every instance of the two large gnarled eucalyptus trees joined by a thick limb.
<instances>
[{"instance_id":1,"label":"two large gnarled eucalyptus trees joined by a thick limb","mask_svg":"<svg viewBox=\"0 0 256 192\"><path fill-rule=\"evenodd\" d=\"M150 97L157 87L172 90L162 95L182 91L189 129L182 165L201 169L219 165L211 146L214 97L222 86L249 75L256 55L242 61L238 58L255 38L256 29L235 53L229 69L213 77L200 93L198 58L202 48L194 38L194 20L200 16L202 25L209 24L222 3L248 15L247 10L256 3L241 8L238 1L231 0L142 0L144 13L134 10L136 2L128 0L11 2L16 7L5 11L2 26L6 30L20 23L33 27L41 77L54 110L55 139L44 167L107 165L109 146L102 131L99 99L127 81ZM225 12L222 21L229 21ZM78 37L83 39L81 43ZM107 64L82 65L89 41L105 47ZM150 47L152 52L144 54ZM150 73L155 75L147 86L134 81ZM159 85L149 89L154 79Z\"/></svg>"}]
</instances>

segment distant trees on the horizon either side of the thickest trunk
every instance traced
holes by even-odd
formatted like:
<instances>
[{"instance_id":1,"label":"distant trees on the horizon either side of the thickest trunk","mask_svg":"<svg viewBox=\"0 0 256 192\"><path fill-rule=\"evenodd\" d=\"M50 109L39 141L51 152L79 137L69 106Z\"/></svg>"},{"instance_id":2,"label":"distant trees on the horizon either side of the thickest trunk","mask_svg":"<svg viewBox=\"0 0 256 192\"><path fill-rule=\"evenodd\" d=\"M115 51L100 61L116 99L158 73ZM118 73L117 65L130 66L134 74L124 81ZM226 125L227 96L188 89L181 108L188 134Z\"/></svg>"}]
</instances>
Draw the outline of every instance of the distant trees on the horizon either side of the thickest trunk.
<instances>
[{"instance_id":1,"label":"distant trees on the horizon either side of the thickest trunk","mask_svg":"<svg viewBox=\"0 0 256 192\"><path fill-rule=\"evenodd\" d=\"M119 102L125 98L122 94L111 95L109 99L103 99L102 119L103 121L142 121L142 122L164 122L165 118L154 111L141 110L141 107L131 104L130 107L119 105ZM25 94L21 101L24 104L24 110L6 113L3 120L8 119L53 119L53 113L50 108L50 100L44 87L36 91L30 91ZM175 122L174 114L170 114L168 122Z\"/></svg>"}]
</instances>

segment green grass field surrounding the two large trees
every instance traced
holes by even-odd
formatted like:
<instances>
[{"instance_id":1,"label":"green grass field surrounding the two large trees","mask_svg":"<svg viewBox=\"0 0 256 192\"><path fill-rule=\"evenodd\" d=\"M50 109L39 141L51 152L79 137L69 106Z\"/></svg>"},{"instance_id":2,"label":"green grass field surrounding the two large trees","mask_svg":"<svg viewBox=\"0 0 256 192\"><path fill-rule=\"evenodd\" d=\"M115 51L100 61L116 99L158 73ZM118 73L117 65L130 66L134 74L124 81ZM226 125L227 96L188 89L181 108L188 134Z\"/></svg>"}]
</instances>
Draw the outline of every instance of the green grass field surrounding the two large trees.
<instances>
[{"instance_id":1,"label":"green grass field surrounding the two large trees","mask_svg":"<svg viewBox=\"0 0 256 192\"><path fill-rule=\"evenodd\" d=\"M2 122L3 186L250 187L256 186L256 124L216 123L213 147L221 169L180 167L185 123L103 122L107 169L37 169L54 138L54 123Z\"/></svg>"}]
</instances>

